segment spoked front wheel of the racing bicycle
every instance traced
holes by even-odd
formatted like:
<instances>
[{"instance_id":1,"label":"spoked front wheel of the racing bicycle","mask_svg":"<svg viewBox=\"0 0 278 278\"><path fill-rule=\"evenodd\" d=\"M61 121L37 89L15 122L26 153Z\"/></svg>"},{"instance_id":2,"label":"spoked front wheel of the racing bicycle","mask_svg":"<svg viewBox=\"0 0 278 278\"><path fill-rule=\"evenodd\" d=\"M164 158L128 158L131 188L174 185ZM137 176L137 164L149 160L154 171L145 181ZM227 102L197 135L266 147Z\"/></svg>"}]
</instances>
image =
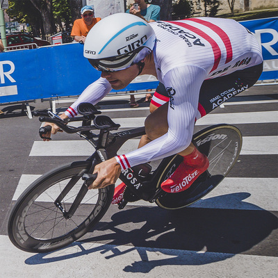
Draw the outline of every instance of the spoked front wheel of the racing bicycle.
<instances>
[{"instance_id":1,"label":"spoked front wheel of the racing bicycle","mask_svg":"<svg viewBox=\"0 0 278 278\"><path fill-rule=\"evenodd\" d=\"M42 175L26 188L15 202L8 220L8 236L16 247L35 253L58 250L81 238L101 220L113 199L113 185L88 190L70 219L65 219L53 202L65 184L74 181L73 188L61 202L67 210L83 184L82 175L88 172L90 165L89 161L63 165Z\"/></svg>"}]
</instances>

